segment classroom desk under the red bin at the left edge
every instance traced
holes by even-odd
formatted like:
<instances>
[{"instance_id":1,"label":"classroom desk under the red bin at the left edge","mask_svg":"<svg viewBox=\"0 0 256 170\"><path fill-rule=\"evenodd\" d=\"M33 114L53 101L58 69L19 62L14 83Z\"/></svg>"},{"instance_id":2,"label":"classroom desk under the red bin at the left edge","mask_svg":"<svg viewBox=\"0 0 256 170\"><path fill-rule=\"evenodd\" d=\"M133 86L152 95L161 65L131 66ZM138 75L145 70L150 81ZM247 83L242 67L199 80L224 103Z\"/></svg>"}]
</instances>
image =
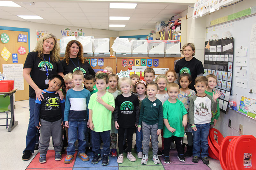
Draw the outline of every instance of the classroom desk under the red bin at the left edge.
<instances>
[{"instance_id":1,"label":"classroom desk under the red bin at the left edge","mask_svg":"<svg viewBox=\"0 0 256 170\"><path fill-rule=\"evenodd\" d=\"M15 121L14 119L14 107L13 107L13 93L16 92L17 89L11 90L10 92L0 92L0 94L5 94L4 97L10 96L10 102L11 102L11 121L9 124L8 132L11 132L11 130L19 123L18 121Z\"/></svg>"}]
</instances>

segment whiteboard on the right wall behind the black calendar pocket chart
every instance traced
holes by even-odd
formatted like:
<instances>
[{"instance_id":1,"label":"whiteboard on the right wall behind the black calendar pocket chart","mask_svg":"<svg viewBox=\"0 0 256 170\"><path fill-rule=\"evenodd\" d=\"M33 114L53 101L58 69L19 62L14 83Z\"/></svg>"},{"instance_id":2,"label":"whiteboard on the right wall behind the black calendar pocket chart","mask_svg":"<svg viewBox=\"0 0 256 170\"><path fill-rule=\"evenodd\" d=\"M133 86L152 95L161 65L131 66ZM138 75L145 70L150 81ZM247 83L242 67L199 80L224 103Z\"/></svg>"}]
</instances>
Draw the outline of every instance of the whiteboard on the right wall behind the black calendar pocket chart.
<instances>
[{"instance_id":1,"label":"whiteboard on the right wall behind the black calendar pocket chart","mask_svg":"<svg viewBox=\"0 0 256 170\"><path fill-rule=\"evenodd\" d=\"M226 39L229 36L234 37L230 95L236 96L239 107L242 96L256 100L256 15L206 29L206 41Z\"/></svg>"}]
</instances>

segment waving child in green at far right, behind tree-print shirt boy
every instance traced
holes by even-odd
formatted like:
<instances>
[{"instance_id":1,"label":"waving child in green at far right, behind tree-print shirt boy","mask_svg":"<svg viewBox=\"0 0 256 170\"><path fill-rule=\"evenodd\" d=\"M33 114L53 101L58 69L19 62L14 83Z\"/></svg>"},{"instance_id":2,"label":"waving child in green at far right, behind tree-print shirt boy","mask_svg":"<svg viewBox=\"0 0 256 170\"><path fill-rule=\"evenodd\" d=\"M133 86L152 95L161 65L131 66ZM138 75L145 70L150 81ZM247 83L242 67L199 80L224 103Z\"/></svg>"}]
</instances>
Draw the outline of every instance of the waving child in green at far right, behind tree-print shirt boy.
<instances>
[{"instance_id":1,"label":"waving child in green at far right, behind tree-print shirt boy","mask_svg":"<svg viewBox=\"0 0 256 170\"><path fill-rule=\"evenodd\" d=\"M217 85L217 78L213 74L207 75L206 78L208 79L208 87L206 88L205 93L212 96L212 94L213 94L212 89ZM212 112L210 129L212 129L213 126L215 126L218 118L220 117L219 99L217 99L217 103L218 103L217 104L217 112Z\"/></svg>"}]
</instances>

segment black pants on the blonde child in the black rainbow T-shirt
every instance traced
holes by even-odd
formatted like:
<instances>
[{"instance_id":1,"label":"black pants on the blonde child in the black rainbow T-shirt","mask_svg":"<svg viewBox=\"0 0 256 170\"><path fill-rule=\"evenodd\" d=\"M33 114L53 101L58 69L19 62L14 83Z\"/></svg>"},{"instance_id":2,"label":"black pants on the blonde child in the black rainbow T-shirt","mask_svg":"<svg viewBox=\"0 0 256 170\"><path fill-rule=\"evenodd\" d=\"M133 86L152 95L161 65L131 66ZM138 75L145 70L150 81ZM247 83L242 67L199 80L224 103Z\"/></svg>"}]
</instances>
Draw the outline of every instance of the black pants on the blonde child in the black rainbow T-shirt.
<instances>
[{"instance_id":1,"label":"black pants on the blonde child in the black rainbow T-shirt","mask_svg":"<svg viewBox=\"0 0 256 170\"><path fill-rule=\"evenodd\" d=\"M123 153L124 130L127 129L127 152L132 152L132 135L134 128L121 128L118 129L118 148L119 154Z\"/></svg>"}]
</instances>

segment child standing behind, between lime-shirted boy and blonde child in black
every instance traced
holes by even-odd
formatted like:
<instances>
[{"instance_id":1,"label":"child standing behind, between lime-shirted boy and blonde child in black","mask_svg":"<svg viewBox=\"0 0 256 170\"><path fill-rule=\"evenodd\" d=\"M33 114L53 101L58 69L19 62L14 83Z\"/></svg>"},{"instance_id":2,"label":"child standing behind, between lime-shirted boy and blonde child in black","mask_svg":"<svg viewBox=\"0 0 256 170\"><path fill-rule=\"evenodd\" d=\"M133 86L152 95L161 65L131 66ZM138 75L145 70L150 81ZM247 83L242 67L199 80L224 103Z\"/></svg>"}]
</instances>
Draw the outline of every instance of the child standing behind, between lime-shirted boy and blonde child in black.
<instances>
[{"instance_id":1,"label":"child standing behind, between lime-shirted boy and blonde child in black","mask_svg":"<svg viewBox=\"0 0 256 170\"><path fill-rule=\"evenodd\" d=\"M109 89L107 92L111 93L114 97L114 100L116 100L116 97L120 94L122 94L119 90L116 89L117 83L118 83L118 76L116 74L110 74L108 76L108 85ZM114 114L112 114L112 119L111 119L111 156L116 157L117 152L116 152L116 143L117 143L117 129L115 127L115 122L114 122Z\"/></svg>"}]
</instances>

